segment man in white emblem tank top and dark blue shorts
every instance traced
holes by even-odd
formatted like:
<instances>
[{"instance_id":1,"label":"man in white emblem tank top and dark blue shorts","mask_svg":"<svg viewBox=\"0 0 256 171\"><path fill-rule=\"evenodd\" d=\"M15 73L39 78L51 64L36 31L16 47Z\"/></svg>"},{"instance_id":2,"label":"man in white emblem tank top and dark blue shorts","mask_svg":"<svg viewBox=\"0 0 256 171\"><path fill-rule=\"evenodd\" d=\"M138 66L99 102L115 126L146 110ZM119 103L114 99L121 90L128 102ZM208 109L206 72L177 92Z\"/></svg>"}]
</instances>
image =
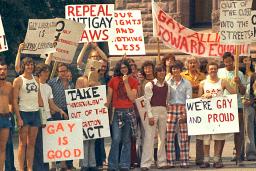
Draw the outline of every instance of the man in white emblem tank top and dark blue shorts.
<instances>
[{"instance_id":1,"label":"man in white emblem tank top and dark blue shorts","mask_svg":"<svg viewBox=\"0 0 256 171\"><path fill-rule=\"evenodd\" d=\"M24 58L21 62L21 75L13 82L13 107L19 128L18 161L21 171L24 171L25 155L27 170L33 170L35 141L38 127L41 126L39 106L43 106L43 101L38 80L33 76L34 67L31 58Z\"/></svg>"}]
</instances>

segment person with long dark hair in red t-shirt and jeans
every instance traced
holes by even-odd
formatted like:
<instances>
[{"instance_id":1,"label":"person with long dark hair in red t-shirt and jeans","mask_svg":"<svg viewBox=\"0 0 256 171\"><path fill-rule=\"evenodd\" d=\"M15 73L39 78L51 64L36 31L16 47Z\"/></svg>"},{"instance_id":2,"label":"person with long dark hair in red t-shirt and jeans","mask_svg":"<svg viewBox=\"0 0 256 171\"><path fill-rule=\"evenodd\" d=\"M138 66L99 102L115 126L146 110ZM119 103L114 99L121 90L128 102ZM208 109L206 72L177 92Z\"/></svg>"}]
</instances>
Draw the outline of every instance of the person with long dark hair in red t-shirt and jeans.
<instances>
[{"instance_id":1,"label":"person with long dark hair in red t-shirt and jeans","mask_svg":"<svg viewBox=\"0 0 256 171\"><path fill-rule=\"evenodd\" d=\"M112 121L112 143L108 158L109 170L128 171L131 164L131 135L136 136L136 116L133 102L137 97L138 82L130 76L127 60L119 61L114 77L108 83L106 106L115 108ZM122 143L119 155L119 144Z\"/></svg>"}]
</instances>

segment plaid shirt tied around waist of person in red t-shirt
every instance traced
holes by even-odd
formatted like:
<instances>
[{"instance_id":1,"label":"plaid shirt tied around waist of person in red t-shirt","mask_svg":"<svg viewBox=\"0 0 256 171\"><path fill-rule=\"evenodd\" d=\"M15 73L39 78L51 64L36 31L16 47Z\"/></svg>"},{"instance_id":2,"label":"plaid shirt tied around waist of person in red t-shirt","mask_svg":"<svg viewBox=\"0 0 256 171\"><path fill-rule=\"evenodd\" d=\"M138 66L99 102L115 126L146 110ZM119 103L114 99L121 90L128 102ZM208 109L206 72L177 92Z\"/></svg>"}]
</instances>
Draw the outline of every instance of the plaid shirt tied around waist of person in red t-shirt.
<instances>
[{"instance_id":1,"label":"plaid shirt tied around waist of person in red t-shirt","mask_svg":"<svg viewBox=\"0 0 256 171\"><path fill-rule=\"evenodd\" d=\"M116 114L118 116L118 127L122 128L124 126L123 119L125 115L128 117L128 122L131 124L132 136L137 135L137 120L134 109L127 109L127 110L118 110L116 109Z\"/></svg>"}]
</instances>

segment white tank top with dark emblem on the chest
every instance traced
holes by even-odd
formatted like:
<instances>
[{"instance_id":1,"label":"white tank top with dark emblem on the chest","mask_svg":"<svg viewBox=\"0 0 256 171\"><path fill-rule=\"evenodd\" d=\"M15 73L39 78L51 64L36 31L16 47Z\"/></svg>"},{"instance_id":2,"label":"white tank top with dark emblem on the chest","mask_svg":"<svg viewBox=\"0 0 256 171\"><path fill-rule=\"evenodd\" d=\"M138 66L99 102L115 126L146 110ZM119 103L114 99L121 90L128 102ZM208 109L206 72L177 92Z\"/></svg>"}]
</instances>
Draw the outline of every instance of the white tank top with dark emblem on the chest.
<instances>
[{"instance_id":1,"label":"white tank top with dark emblem on the chest","mask_svg":"<svg viewBox=\"0 0 256 171\"><path fill-rule=\"evenodd\" d=\"M39 110L38 90L39 86L34 76L31 80L24 78L22 75L22 87L19 92L19 108L23 112L35 112Z\"/></svg>"}]
</instances>

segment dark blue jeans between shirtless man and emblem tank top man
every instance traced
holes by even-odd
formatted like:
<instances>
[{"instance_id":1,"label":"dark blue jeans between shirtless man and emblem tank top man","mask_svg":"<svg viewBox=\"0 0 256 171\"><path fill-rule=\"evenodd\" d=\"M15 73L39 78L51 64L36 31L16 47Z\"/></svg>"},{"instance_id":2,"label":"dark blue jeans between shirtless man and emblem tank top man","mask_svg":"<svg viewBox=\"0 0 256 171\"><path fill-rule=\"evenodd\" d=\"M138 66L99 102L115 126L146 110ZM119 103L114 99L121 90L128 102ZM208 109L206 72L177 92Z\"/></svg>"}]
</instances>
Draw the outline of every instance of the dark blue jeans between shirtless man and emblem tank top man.
<instances>
[{"instance_id":1,"label":"dark blue jeans between shirtless man and emblem tank top man","mask_svg":"<svg viewBox=\"0 0 256 171\"><path fill-rule=\"evenodd\" d=\"M9 138L6 144L6 158L5 158L5 171L15 171L14 166L14 152L13 152L13 140L12 135L14 133L15 121L12 115L11 117L12 128L9 131Z\"/></svg>"}]
</instances>

